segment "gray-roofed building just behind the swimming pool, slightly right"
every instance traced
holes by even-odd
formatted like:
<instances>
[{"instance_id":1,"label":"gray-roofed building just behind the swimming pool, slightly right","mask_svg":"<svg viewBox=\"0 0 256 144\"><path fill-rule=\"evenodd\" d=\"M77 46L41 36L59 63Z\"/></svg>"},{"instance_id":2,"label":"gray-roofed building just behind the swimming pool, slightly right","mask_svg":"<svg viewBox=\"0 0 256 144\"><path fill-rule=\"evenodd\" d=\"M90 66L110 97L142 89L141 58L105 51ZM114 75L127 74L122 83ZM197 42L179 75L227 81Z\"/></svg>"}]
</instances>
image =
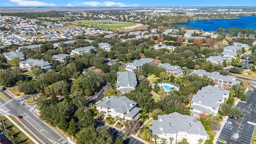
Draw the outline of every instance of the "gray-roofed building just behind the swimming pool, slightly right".
<instances>
[{"instance_id":1,"label":"gray-roofed building just behind the swimming pool, slightly right","mask_svg":"<svg viewBox=\"0 0 256 144\"><path fill-rule=\"evenodd\" d=\"M158 66L164 68L167 73L171 73L176 77L181 77L184 75L180 66L172 66L170 63L161 63Z\"/></svg>"}]
</instances>

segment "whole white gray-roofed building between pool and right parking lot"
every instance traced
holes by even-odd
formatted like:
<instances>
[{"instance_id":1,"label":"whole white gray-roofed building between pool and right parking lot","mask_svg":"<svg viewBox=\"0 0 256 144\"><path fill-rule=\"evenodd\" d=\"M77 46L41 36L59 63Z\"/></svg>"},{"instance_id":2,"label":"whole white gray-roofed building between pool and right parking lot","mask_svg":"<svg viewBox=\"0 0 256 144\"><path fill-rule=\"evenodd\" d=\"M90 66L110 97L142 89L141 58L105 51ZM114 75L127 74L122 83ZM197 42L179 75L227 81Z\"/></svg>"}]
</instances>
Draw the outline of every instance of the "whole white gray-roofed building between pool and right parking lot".
<instances>
[{"instance_id":1,"label":"whole white gray-roofed building between pool and right parking lot","mask_svg":"<svg viewBox=\"0 0 256 144\"><path fill-rule=\"evenodd\" d=\"M202 113L218 115L219 106L228 100L229 91L208 85L198 90L191 100L190 113L199 116Z\"/></svg>"}]
</instances>

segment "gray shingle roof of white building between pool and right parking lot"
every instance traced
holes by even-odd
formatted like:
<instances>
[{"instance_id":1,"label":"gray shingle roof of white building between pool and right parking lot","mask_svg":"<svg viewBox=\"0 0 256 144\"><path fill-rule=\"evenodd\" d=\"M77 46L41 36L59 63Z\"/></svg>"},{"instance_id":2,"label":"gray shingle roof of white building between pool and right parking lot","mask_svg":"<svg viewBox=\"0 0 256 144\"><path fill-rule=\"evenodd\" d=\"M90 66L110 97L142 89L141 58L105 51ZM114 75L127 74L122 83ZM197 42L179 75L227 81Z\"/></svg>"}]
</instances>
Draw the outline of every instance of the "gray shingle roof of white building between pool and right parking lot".
<instances>
[{"instance_id":1,"label":"gray shingle roof of white building between pool and right parking lot","mask_svg":"<svg viewBox=\"0 0 256 144\"><path fill-rule=\"evenodd\" d=\"M221 89L220 87L208 85L202 88L202 90L198 90L197 93L193 96L192 102L200 103L206 107L212 107L217 109L219 107L218 101L222 101L223 95L229 94L229 91ZM194 105L191 105L193 108ZM198 107L198 110L205 111L203 107ZM207 112L207 111L206 111Z\"/></svg>"}]
</instances>

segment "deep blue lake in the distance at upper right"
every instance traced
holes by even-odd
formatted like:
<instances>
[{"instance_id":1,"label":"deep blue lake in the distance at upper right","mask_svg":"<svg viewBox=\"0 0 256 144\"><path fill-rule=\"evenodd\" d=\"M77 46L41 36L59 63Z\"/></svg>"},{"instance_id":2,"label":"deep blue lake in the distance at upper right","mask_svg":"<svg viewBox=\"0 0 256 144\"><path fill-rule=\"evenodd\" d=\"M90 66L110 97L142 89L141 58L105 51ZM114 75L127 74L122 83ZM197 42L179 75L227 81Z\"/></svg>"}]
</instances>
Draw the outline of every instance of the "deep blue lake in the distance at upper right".
<instances>
[{"instance_id":1,"label":"deep blue lake in the distance at upper right","mask_svg":"<svg viewBox=\"0 0 256 144\"><path fill-rule=\"evenodd\" d=\"M178 25L199 28L204 31L215 31L219 28L248 28L256 30L256 16L239 17L237 19L196 20L188 23L179 23Z\"/></svg>"}]
</instances>

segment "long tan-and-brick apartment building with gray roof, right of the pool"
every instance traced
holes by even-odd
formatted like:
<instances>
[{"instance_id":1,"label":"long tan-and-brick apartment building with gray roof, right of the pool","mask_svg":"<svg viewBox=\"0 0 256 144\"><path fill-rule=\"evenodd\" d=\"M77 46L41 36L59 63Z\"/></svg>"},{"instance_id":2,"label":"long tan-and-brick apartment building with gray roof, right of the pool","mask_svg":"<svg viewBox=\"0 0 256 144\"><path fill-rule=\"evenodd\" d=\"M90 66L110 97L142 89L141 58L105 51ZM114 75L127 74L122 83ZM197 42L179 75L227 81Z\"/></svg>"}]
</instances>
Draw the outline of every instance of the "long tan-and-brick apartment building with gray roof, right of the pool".
<instances>
[{"instance_id":1,"label":"long tan-and-brick apartment building with gray roof, right of the pool","mask_svg":"<svg viewBox=\"0 0 256 144\"><path fill-rule=\"evenodd\" d=\"M190 73L190 75L198 75L198 76L207 76L211 79L213 79L213 83L215 86L220 87L225 90L231 89L231 87L235 84L240 84L239 81L236 80L235 76L231 75L220 75L219 72L214 71L212 73L209 73L203 69L198 69Z\"/></svg>"}]
</instances>

